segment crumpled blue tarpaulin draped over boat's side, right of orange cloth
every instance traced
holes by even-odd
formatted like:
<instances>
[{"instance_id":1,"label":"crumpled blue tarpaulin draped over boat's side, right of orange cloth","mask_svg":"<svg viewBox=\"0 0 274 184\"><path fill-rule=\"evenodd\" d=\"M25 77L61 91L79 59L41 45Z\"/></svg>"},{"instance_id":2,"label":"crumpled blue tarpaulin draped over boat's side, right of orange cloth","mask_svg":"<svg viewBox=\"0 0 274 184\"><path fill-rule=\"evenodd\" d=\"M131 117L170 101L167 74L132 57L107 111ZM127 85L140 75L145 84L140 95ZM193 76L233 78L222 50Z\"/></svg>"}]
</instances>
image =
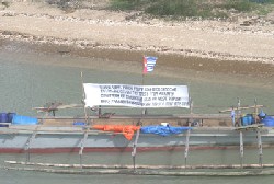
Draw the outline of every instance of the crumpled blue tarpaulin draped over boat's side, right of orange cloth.
<instances>
[{"instance_id":1,"label":"crumpled blue tarpaulin draped over boat's side, right of orange cloth","mask_svg":"<svg viewBox=\"0 0 274 184\"><path fill-rule=\"evenodd\" d=\"M181 134L191 127L172 127L172 126L162 126L162 125L151 125L140 128L140 131L144 134L157 134L160 136L170 136L173 134Z\"/></svg>"}]
</instances>

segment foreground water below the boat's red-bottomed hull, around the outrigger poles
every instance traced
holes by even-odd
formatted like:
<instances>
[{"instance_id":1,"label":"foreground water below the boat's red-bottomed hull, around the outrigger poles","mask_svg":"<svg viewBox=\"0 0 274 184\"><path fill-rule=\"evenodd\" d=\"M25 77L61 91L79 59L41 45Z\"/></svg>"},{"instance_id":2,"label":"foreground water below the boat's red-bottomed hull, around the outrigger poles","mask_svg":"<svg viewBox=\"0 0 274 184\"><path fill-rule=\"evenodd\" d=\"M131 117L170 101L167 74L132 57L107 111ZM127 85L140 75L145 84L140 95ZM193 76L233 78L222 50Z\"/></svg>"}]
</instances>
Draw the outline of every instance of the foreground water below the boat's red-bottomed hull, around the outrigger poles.
<instances>
[{"instance_id":1,"label":"foreground water below the boat's red-bottomed hull, around the outrigger poles","mask_svg":"<svg viewBox=\"0 0 274 184\"><path fill-rule=\"evenodd\" d=\"M274 163L273 149L264 149L263 162ZM38 163L69 163L79 164L80 159L77 153L61 153L61 154L31 154L32 162ZM4 161L16 160L26 161L26 154L1 154L1 166L10 166L4 164ZM110 153L83 153L82 163L99 163L99 164L133 164L130 152L110 152ZM162 164L162 165L184 165L183 151L161 151L161 152L137 152L137 164ZM192 150L187 158L187 164L239 164L239 150ZM243 163L258 163L258 150L244 150ZM14 166L14 165L11 165ZM22 168L21 165L18 165ZM33 168L33 166L25 166ZM53 168L52 168L53 169ZM182 183L182 184L238 184L250 183L258 184L260 182L265 184L273 183L274 176L145 176L145 175L87 175L87 174L57 174L45 173L37 171L16 171L0 169L1 182L5 184L75 184L75 183L90 183L90 184L109 184L109 183ZM215 170L218 172L221 170ZM224 170L224 171L247 171L247 170Z\"/></svg>"}]
</instances>

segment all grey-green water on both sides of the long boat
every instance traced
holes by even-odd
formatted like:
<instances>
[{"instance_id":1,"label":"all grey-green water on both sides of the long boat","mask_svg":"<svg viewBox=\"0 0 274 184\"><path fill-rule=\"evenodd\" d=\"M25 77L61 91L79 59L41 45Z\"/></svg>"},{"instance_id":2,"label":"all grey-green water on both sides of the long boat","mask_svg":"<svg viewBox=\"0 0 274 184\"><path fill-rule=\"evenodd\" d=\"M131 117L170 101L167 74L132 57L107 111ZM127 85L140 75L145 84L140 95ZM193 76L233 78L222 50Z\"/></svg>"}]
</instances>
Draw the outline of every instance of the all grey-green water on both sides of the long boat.
<instances>
[{"instance_id":1,"label":"all grey-green water on both sides of the long boat","mask_svg":"<svg viewBox=\"0 0 274 184\"><path fill-rule=\"evenodd\" d=\"M83 78L80 73L83 73ZM145 84L187 84L194 101L194 113L218 113L218 110L237 104L253 105L254 99L266 107L266 114L274 114L273 79L258 79L252 76L227 76L204 73L184 69L156 66L145 77ZM140 84L140 61L112 61L100 58L80 58L67 55L35 54L9 46L0 50L0 111L21 115L36 115L32 110L48 102L64 104L81 103L82 81L91 83ZM139 111L113 110L115 113L140 113ZM149 110L149 113L189 113L189 110ZM58 115L83 115L83 110L66 110ZM273 149L263 150L263 163L274 163ZM239 150L191 151L187 164L239 164ZM25 161L25 154L1 154L1 168L5 160ZM50 163L79 163L78 154L31 154L31 161ZM184 164L183 152L137 153L138 164ZM130 153L87 153L84 163L132 164ZM258 163L258 150L244 150L244 163ZM54 174L34 171L0 170L4 184L75 184L75 183L273 183L274 176L137 176L137 175L77 175Z\"/></svg>"}]
</instances>

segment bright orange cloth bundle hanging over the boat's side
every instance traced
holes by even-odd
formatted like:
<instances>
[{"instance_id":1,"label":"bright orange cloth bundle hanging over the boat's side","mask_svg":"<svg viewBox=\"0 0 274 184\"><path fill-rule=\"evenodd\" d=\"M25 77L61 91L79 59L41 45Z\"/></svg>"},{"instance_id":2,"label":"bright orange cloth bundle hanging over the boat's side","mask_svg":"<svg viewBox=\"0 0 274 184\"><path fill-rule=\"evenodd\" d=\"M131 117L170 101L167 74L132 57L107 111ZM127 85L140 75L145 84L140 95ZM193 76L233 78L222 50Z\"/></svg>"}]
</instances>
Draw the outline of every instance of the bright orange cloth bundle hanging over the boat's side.
<instances>
[{"instance_id":1,"label":"bright orange cloth bundle hanging over the boat's side","mask_svg":"<svg viewBox=\"0 0 274 184\"><path fill-rule=\"evenodd\" d=\"M140 126L135 125L93 125L93 129L102 130L102 131L114 131L122 133L127 140L132 140L134 136L134 131L140 129Z\"/></svg>"}]
</instances>

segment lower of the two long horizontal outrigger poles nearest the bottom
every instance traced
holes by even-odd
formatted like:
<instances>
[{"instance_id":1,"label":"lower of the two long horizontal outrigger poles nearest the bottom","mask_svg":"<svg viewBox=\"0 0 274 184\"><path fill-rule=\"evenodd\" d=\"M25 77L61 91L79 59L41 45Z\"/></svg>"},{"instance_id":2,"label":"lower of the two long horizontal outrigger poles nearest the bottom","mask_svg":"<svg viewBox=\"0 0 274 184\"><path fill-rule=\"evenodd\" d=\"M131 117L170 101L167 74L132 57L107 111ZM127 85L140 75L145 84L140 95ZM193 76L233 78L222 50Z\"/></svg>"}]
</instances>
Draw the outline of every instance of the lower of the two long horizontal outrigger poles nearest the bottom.
<instances>
[{"instance_id":1,"label":"lower of the two long horizontal outrigger poles nearest the bottom","mask_svg":"<svg viewBox=\"0 0 274 184\"><path fill-rule=\"evenodd\" d=\"M181 172L181 171L128 171L128 170L100 170L100 171L84 171L84 170L55 170L55 169L35 169L35 168L4 168L5 170L16 171L36 171L46 173L59 173L59 174L128 174L128 175L165 175L165 176L254 176L254 175L274 175L274 170L262 170L262 171L230 171L230 172Z\"/></svg>"}]
</instances>

